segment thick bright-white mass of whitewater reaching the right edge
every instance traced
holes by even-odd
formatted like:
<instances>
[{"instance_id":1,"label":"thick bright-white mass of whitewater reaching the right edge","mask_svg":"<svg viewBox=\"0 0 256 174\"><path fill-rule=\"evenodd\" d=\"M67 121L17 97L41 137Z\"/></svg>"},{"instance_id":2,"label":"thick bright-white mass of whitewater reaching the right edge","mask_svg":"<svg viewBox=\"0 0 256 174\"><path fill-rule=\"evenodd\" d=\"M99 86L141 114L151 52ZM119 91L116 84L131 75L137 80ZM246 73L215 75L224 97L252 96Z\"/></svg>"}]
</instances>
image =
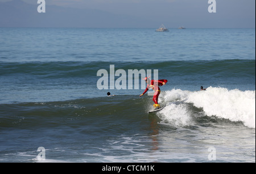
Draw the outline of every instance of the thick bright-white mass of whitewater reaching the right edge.
<instances>
[{"instance_id":1,"label":"thick bright-white mass of whitewater reaching the right edge","mask_svg":"<svg viewBox=\"0 0 256 174\"><path fill-rule=\"evenodd\" d=\"M209 87L206 91L193 92L186 102L202 107L205 114L230 121L241 121L255 129L255 90L242 92L238 89Z\"/></svg>"}]
</instances>

